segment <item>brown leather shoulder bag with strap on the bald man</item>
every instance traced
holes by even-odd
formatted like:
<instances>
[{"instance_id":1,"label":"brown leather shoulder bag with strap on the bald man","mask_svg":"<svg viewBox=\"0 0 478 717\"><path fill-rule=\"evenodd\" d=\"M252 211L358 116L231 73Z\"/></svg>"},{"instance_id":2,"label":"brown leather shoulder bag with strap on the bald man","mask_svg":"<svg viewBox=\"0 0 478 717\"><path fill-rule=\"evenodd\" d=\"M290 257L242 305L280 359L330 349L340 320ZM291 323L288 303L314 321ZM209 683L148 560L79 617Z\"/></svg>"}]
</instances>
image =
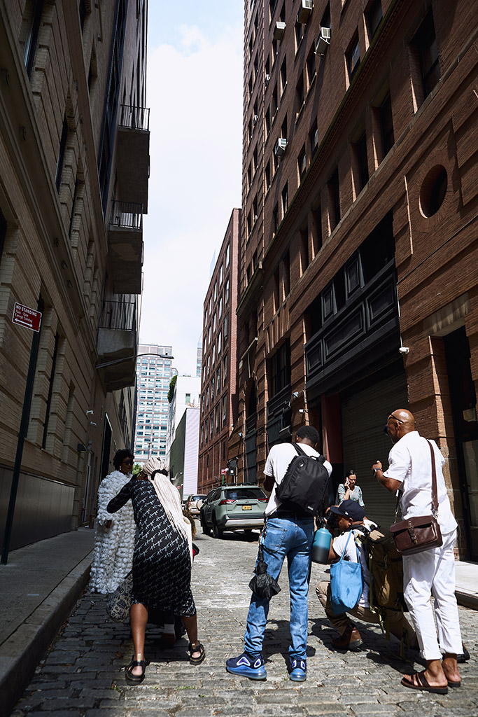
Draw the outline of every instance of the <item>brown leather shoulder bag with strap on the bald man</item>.
<instances>
[{"instance_id":1,"label":"brown leather shoulder bag with strap on the bald man","mask_svg":"<svg viewBox=\"0 0 478 717\"><path fill-rule=\"evenodd\" d=\"M395 510L395 523L390 526L393 542L401 555L415 555L443 545L438 516L438 491L436 490L436 465L433 446L426 440L431 451L431 516L413 516L396 522L398 514L398 495Z\"/></svg>"}]
</instances>

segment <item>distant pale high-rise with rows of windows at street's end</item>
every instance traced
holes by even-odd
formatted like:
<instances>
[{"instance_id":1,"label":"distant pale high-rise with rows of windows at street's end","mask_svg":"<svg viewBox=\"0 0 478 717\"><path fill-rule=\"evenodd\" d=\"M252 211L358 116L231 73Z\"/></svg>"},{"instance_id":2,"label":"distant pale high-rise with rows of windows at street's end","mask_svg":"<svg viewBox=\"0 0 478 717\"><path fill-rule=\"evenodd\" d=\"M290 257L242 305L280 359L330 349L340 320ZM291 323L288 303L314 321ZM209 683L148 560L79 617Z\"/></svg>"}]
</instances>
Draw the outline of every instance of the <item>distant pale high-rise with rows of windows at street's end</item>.
<instances>
[{"instance_id":1,"label":"distant pale high-rise with rows of windows at street's end","mask_svg":"<svg viewBox=\"0 0 478 717\"><path fill-rule=\"evenodd\" d=\"M140 343L138 354L135 460L138 463L150 457L166 460L168 391L172 377L177 374L172 363L173 347Z\"/></svg>"}]
</instances>

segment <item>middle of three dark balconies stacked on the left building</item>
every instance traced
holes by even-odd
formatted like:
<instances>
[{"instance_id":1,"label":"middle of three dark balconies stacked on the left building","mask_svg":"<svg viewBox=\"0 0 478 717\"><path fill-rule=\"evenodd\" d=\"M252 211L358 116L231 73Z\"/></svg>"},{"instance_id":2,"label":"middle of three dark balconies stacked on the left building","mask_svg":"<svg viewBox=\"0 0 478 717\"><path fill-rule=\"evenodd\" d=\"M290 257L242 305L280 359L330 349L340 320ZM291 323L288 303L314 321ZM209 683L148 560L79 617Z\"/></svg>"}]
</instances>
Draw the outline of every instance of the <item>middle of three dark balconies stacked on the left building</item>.
<instances>
[{"instance_id":1,"label":"middle of three dark balconies stacked on the left building","mask_svg":"<svg viewBox=\"0 0 478 717\"><path fill-rule=\"evenodd\" d=\"M108 224L108 264L115 294L140 294L143 205L114 201Z\"/></svg>"}]
</instances>

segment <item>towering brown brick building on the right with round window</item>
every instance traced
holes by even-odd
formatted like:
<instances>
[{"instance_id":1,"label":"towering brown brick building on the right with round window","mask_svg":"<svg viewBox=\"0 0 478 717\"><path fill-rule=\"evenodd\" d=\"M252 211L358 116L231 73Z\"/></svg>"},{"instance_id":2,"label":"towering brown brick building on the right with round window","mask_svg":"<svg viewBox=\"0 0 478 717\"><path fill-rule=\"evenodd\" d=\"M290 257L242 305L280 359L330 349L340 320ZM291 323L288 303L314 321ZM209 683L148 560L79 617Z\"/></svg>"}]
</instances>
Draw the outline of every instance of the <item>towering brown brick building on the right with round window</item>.
<instances>
[{"instance_id":1,"label":"towering brown brick building on the right with round window","mask_svg":"<svg viewBox=\"0 0 478 717\"><path fill-rule=\"evenodd\" d=\"M409 407L474 559L477 23L464 0L246 1L231 437L245 477L314 424L335 483L354 467L386 525L370 467Z\"/></svg>"}]
</instances>

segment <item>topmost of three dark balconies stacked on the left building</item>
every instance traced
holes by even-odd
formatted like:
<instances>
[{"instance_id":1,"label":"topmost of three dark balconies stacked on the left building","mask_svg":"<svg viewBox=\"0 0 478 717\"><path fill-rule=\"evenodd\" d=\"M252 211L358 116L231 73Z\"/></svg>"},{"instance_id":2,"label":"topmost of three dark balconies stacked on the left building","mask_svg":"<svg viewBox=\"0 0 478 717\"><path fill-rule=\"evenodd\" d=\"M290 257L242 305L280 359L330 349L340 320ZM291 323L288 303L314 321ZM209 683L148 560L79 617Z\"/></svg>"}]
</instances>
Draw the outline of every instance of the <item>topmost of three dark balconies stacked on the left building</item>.
<instances>
[{"instance_id":1,"label":"topmost of three dark balconies stacked on the left building","mask_svg":"<svg viewBox=\"0 0 478 717\"><path fill-rule=\"evenodd\" d=\"M116 173L119 198L143 204L143 214L148 214L148 108L120 106Z\"/></svg>"}]
</instances>

